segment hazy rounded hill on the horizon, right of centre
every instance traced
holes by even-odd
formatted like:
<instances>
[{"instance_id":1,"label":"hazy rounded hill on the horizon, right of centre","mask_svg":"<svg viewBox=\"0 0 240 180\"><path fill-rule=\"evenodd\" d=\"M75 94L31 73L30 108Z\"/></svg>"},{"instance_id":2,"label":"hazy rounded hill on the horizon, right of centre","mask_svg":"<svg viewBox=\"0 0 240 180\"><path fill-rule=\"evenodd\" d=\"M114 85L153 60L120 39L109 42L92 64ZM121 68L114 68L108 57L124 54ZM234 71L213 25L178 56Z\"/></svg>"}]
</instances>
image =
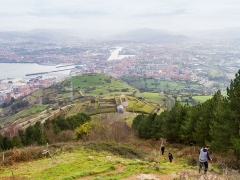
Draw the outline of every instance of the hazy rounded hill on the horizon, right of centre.
<instances>
[{"instance_id":1,"label":"hazy rounded hill on the horizon, right of centre","mask_svg":"<svg viewBox=\"0 0 240 180\"><path fill-rule=\"evenodd\" d=\"M154 42L154 43L179 43L188 37L159 29L136 29L111 37L114 40L134 41L134 42Z\"/></svg>"}]
</instances>

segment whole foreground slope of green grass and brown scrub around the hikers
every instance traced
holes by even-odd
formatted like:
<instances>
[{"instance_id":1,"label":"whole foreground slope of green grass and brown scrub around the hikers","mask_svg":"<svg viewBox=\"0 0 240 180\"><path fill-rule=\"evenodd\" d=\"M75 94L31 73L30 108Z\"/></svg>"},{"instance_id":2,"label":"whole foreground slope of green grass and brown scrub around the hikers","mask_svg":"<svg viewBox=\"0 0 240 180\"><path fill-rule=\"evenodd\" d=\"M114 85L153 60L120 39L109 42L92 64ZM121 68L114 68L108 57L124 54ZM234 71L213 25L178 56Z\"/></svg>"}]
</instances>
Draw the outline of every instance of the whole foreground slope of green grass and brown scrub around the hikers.
<instances>
[{"instance_id":1,"label":"whole foreground slope of green grass and brown scrub around the hikers","mask_svg":"<svg viewBox=\"0 0 240 180\"><path fill-rule=\"evenodd\" d=\"M226 175L217 162L209 164L208 175L198 174L196 147L166 144L165 154L160 155L159 142L139 141L134 144L113 142L54 144L49 147L51 157L41 155L43 148L40 147L7 151L5 162L0 166L0 179L237 180L239 177L238 172L225 169L228 173ZM172 163L168 160L168 152L174 156ZM11 163L7 164L8 162Z\"/></svg>"}]
</instances>

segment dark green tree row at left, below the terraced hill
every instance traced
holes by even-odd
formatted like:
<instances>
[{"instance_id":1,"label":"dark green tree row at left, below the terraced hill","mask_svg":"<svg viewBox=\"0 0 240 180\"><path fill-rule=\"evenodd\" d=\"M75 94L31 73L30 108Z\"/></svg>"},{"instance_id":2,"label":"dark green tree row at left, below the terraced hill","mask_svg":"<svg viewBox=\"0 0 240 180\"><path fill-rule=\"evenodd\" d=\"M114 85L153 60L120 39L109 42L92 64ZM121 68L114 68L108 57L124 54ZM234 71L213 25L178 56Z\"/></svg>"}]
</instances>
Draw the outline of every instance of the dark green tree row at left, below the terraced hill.
<instances>
[{"instance_id":1,"label":"dark green tree row at left, below the terraced hill","mask_svg":"<svg viewBox=\"0 0 240 180\"><path fill-rule=\"evenodd\" d=\"M61 117L58 116L53 120L46 120L44 124L41 124L39 121L34 125L30 125L26 130L19 130L18 136L9 138L0 134L0 152L3 150L8 150L13 147L23 147L33 144L44 145L46 143L52 143L60 141L58 136L67 136L67 130L73 131L80 125L90 121L90 116L84 113L78 113L77 115L71 117ZM74 135L72 132L69 138L72 138ZM63 139L66 139L64 137Z\"/></svg>"}]
</instances>

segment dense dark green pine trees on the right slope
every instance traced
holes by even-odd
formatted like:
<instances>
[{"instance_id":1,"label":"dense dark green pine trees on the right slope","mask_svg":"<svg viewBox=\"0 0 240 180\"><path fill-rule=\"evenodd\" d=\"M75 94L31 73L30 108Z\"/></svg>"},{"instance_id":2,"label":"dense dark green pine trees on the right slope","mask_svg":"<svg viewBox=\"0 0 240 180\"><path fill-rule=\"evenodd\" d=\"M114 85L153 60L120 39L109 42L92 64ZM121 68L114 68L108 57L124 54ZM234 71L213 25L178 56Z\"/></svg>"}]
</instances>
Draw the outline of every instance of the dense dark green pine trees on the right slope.
<instances>
[{"instance_id":1,"label":"dense dark green pine trees on the right slope","mask_svg":"<svg viewBox=\"0 0 240 180\"><path fill-rule=\"evenodd\" d=\"M169 142L210 144L215 152L233 151L240 158L240 70L227 88L196 106L176 102L160 115L138 115L132 124L144 139L166 138Z\"/></svg>"}]
</instances>

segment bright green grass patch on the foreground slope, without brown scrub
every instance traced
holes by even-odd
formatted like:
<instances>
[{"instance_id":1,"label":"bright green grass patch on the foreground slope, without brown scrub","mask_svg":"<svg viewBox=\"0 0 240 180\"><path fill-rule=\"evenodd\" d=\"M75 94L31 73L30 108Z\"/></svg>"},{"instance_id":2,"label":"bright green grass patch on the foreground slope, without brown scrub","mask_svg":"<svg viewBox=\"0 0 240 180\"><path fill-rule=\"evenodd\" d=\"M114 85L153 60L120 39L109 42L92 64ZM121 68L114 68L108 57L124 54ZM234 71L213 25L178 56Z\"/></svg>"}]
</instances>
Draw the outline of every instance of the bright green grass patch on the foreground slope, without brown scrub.
<instances>
[{"instance_id":1,"label":"bright green grass patch on the foreground slope, without brown scrub","mask_svg":"<svg viewBox=\"0 0 240 180\"><path fill-rule=\"evenodd\" d=\"M71 145L70 145L71 146ZM155 164L158 162L158 152L143 152L134 147L120 146L109 143L88 143L85 148L76 148L72 151L62 151L60 148L55 150L53 158L44 158L37 161L17 163L10 167L0 168L0 178L31 179L31 180L55 180L55 179L123 179L131 175L140 173L152 174L171 174L179 172L183 168L184 160L179 159L179 163L168 162L167 158L161 158L160 170L157 170L152 158L155 158ZM128 148L129 147L129 148ZM94 149L96 148L97 151ZM101 148L103 148L101 150ZM132 148L132 149L131 149ZM104 149L109 149L104 151ZM111 153L110 151L114 152ZM121 154L134 152L143 153L139 158L127 158Z\"/></svg>"}]
</instances>

